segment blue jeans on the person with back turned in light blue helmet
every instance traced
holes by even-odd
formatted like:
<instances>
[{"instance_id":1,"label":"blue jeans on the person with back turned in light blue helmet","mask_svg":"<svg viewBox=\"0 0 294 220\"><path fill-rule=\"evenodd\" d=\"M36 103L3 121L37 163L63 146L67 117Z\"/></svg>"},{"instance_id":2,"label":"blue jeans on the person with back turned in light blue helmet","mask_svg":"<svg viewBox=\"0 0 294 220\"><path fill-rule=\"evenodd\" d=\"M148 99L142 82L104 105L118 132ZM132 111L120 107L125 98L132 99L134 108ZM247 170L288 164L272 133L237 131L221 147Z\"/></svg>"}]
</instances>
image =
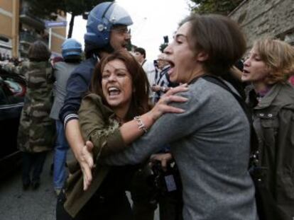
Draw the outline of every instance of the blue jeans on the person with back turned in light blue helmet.
<instances>
[{"instance_id":1,"label":"blue jeans on the person with back turned in light blue helmet","mask_svg":"<svg viewBox=\"0 0 294 220\"><path fill-rule=\"evenodd\" d=\"M65 162L67 150L70 148L65 138L65 130L60 120L55 120L56 123L56 145L54 154L54 171L53 184L55 189L61 189L67 178L67 171L65 169Z\"/></svg>"}]
</instances>

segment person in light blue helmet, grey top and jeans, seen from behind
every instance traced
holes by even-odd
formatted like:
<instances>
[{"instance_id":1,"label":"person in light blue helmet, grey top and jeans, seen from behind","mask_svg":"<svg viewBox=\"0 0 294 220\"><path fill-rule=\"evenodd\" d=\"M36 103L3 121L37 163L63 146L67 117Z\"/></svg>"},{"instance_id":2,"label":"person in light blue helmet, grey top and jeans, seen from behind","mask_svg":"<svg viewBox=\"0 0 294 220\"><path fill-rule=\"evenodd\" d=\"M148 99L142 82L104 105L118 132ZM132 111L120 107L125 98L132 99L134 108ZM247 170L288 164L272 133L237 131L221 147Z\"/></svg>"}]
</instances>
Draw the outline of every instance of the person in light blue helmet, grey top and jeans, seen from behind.
<instances>
[{"instance_id":1,"label":"person in light blue helmet, grey top and jeans, seen from behind","mask_svg":"<svg viewBox=\"0 0 294 220\"><path fill-rule=\"evenodd\" d=\"M59 195L67 177L65 162L67 150L69 149L63 125L62 122L60 122L58 115L60 108L64 103L67 79L70 77L70 74L72 74L72 71L80 64L82 45L77 40L70 38L63 42L61 52L64 61L55 62L53 64L53 76L55 77L53 93L55 97L50 112L50 117L55 120L57 131L53 172L53 185L57 195Z\"/></svg>"}]
</instances>

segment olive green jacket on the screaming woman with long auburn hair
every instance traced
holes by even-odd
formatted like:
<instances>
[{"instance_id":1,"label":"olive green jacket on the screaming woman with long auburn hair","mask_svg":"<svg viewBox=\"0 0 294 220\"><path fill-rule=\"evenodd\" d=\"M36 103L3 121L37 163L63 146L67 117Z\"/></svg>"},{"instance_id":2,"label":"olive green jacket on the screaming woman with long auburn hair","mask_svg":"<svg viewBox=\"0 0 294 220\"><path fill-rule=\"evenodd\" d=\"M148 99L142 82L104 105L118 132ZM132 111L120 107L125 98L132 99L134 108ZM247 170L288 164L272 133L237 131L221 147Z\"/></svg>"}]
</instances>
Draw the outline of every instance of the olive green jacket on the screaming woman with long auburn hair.
<instances>
[{"instance_id":1,"label":"olive green jacket on the screaming woman with long auburn hair","mask_svg":"<svg viewBox=\"0 0 294 220\"><path fill-rule=\"evenodd\" d=\"M64 204L71 216L85 206L98 190L109 173L109 166L98 164L100 157L113 154L126 148L119 132L119 123L114 120L114 112L102 103L99 95L89 94L82 100L79 110L80 127L85 140L94 144L93 154L96 165L92 170L93 180L87 191L83 190L82 170L77 161L69 163L70 177L67 179Z\"/></svg>"}]
</instances>

